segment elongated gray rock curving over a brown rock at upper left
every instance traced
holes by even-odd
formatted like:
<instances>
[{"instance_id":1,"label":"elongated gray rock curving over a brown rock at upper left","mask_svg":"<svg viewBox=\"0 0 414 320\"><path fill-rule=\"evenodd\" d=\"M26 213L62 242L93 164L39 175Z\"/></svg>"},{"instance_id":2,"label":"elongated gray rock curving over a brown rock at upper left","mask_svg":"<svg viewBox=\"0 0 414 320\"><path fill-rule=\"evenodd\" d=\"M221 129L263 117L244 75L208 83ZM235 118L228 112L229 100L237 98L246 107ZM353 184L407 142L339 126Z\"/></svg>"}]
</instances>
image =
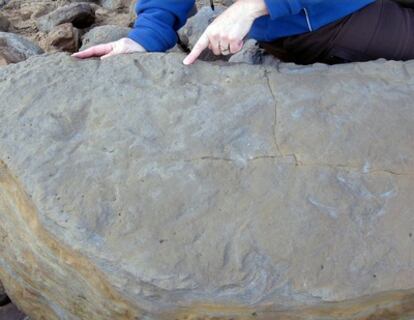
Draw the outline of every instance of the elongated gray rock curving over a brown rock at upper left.
<instances>
[{"instance_id":1,"label":"elongated gray rock curving over a brown rock at upper left","mask_svg":"<svg viewBox=\"0 0 414 320\"><path fill-rule=\"evenodd\" d=\"M40 31L49 32L57 25L70 22L74 27L83 29L95 21L95 12L91 4L86 2L71 3L39 17L36 25Z\"/></svg>"}]
</instances>

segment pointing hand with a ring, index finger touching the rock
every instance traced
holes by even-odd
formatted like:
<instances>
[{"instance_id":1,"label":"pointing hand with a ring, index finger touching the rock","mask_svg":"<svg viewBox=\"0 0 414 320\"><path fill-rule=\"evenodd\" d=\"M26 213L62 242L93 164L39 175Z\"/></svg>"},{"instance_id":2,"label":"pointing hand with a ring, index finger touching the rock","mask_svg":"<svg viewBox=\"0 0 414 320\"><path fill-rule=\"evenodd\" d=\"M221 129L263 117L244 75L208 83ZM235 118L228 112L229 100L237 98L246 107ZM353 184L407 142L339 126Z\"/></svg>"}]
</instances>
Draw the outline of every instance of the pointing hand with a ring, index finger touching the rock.
<instances>
[{"instance_id":1,"label":"pointing hand with a ring, index finger touching the rock","mask_svg":"<svg viewBox=\"0 0 414 320\"><path fill-rule=\"evenodd\" d=\"M238 0L207 27L183 63L194 63L207 48L215 55L239 52L254 20L266 14L264 0Z\"/></svg>"}]
</instances>

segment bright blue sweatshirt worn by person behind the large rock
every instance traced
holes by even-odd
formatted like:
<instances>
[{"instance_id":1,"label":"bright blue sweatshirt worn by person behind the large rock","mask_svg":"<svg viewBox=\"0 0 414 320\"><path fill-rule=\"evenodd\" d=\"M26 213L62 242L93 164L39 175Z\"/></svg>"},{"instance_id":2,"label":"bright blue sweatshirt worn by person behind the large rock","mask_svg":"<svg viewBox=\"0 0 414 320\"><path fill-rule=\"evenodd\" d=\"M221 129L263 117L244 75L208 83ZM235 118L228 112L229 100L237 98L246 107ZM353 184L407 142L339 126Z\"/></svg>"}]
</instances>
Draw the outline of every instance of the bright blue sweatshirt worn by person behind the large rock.
<instances>
[{"instance_id":1,"label":"bright blue sweatshirt worn by person behind the large rock","mask_svg":"<svg viewBox=\"0 0 414 320\"><path fill-rule=\"evenodd\" d=\"M255 20L249 36L259 41L301 34L343 18L375 0L265 0L269 15ZM147 51L164 52L178 40L195 0L138 0L128 37Z\"/></svg>"}]
</instances>

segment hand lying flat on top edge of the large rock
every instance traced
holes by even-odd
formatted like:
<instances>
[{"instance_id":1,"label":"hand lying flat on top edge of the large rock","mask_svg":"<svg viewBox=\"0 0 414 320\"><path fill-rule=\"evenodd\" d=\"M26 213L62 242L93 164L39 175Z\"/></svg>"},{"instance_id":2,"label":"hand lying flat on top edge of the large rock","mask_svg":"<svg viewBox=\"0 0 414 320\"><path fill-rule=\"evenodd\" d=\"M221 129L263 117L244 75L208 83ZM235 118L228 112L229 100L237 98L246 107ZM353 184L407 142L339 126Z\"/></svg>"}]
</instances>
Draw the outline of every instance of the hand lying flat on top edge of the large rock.
<instances>
[{"instance_id":1,"label":"hand lying flat on top edge of the large rock","mask_svg":"<svg viewBox=\"0 0 414 320\"><path fill-rule=\"evenodd\" d=\"M146 52L143 46L129 38L121 38L117 41L98 44L88 49L75 52L71 56L76 58L100 57L101 59L122 53Z\"/></svg>"}]
</instances>

